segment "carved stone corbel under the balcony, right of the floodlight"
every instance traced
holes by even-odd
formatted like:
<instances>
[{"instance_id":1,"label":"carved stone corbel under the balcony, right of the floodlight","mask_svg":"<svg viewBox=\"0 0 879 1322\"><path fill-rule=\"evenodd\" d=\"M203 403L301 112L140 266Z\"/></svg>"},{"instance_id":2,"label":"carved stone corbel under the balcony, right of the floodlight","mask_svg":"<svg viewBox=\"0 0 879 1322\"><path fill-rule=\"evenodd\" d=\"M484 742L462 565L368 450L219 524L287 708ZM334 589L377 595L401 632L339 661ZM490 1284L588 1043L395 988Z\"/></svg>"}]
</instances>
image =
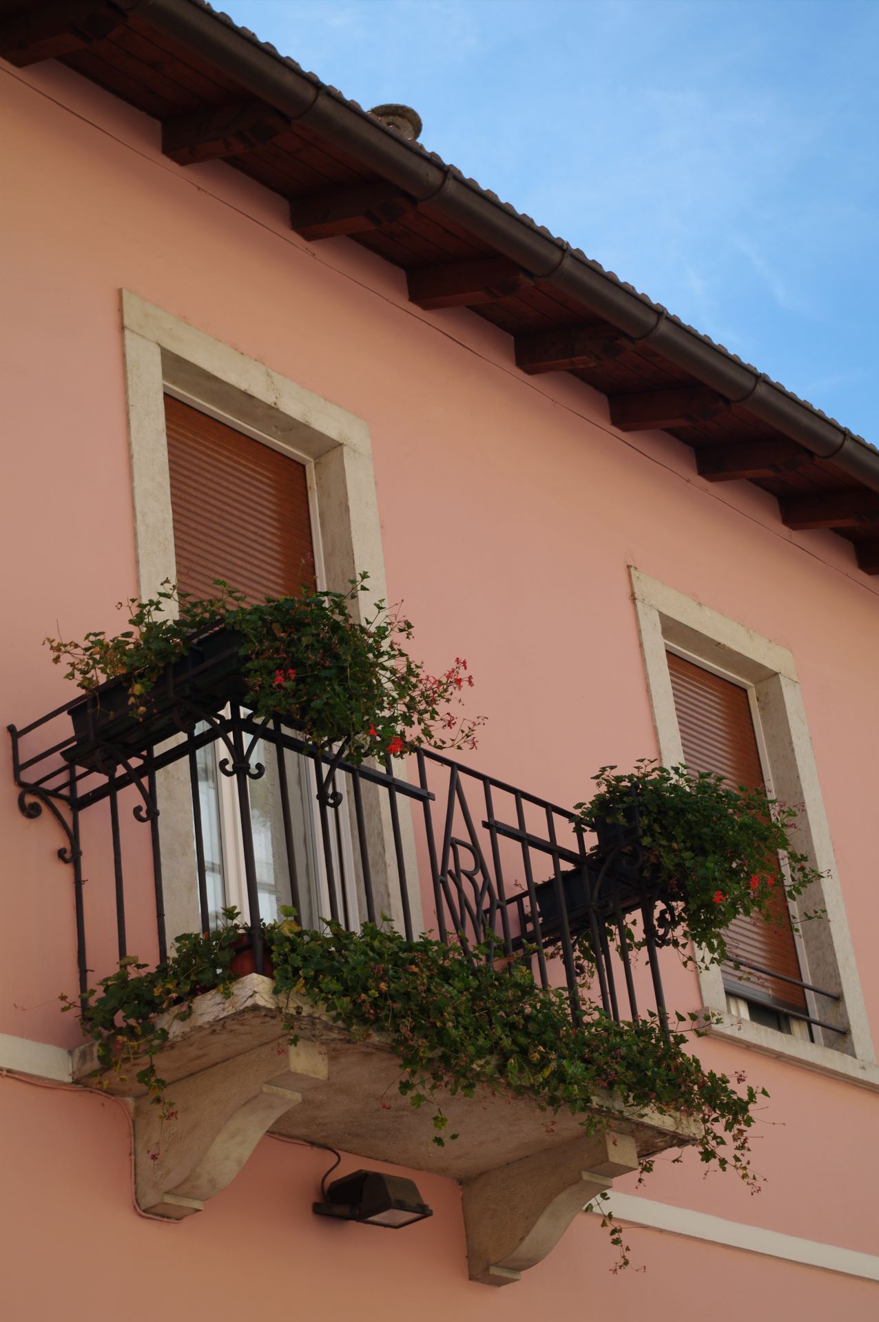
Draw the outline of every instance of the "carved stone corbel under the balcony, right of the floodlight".
<instances>
[{"instance_id":1,"label":"carved stone corbel under the balcony, right of the floodlight","mask_svg":"<svg viewBox=\"0 0 879 1322\"><path fill-rule=\"evenodd\" d=\"M638 1169L629 1134L584 1136L464 1182L472 1281L510 1285L556 1245L590 1199Z\"/></svg>"}]
</instances>

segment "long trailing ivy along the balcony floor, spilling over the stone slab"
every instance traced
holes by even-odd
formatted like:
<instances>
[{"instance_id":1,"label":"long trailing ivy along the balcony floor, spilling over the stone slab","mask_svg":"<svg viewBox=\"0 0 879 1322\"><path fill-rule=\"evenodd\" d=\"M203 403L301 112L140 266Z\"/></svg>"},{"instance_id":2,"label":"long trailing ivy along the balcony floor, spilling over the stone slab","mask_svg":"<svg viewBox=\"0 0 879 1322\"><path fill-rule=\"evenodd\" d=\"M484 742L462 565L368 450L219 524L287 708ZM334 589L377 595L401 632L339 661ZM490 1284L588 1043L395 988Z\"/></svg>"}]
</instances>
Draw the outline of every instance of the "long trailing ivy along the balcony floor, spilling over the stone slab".
<instances>
[{"instance_id":1,"label":"long trailing ivy along the balcony floor, spilling over the stone slab","mask_svg":"<svg viewBox=\"0 0 879 1322\"><path fill-rule=\"evenodd\" d=\"M264 925L263 936L275 993L288 1007L289 1040L307 1031L301 997L356 1038L381 1036L399 1062L401 1093L412 1107L434 1108L438 1146L459 1137L448 1133L439 1101L445 1092L472 1097L484 1085L529 1097L547 1112L547 1124L567 1110L587 1133L611 1124L607 1093L613 1093L636 1113L656 1109L695 1121L699 1158L734 1170L756 1190L748 1137L759 1097L768 1093L749 1085L739 1091L727 1075L705 1069L685 1050L686 1034L703 1031L703 1017L678 1013L677 1031L666 1036L656 1015L617 1023L584 1002L583 1022L575 1025L567 993L538 986L525 958L500 969L488 948L465 951L430 936L407 941L373 923L358 932L336 923L323 932L304 931L292 910L283 914ZM177 953L156 969L123 960L118 973L87 993L81 1011L85 1031L98 1044L103 1087L108 1069L124 1077L136 1068L163 1118L176 1114L156 1068L169 1022L188 1018L201 992L231 994L230 961L246 928L235 910L226 910L225 919L217 932L178 937ZM77 1009L69 998L62 1001L65 1009ZM739 1085L744 1081L744 1075L736 1076ZM642 1163L642 1174L650 1169L652 1162ZM621 1251L619 1265L625 1265L621 1232L609 1214L604 1224Z\"/></svg>"}]
</instances>

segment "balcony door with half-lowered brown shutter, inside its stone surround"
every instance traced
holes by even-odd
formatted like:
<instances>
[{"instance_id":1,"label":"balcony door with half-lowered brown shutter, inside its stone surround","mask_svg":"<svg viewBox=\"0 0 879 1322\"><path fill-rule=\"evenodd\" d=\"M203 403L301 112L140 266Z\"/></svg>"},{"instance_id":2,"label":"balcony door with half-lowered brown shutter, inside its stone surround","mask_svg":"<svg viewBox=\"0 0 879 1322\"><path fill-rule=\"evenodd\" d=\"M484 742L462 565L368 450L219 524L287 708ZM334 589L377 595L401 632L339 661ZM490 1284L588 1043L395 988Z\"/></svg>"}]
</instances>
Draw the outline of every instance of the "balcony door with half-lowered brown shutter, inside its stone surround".
<instances>
[{"instance_id":1,"label":"balcony door with half-lowered brown shutter, inside its stone surround","mask_svg":"<svg viewBox=\"0 0 879 1322\"><path fill-rule=\"evenodd\" d=\"M295 596L303 588L313 588L305 464L173 395L165 394L164 407L178 588L194 596L211 596L217 592L215 582L222 579L251 600ZM242 808L235 779L222 772L225 758L222 743L209 744L197 754L205 880L214 924L221 921L226 907L242 914L248 908ZM266 771L247 784L259 916L274 921L279 907L291 903L292 866L299 880L300 919L317 925L320 915L329 912L329 898L323 841L315 821L315 768L295 752L284 752L283 759L292 862L286 847L280 768L275 750L262 740L254 748L254 760ZM330 843L334 876L340 875L340 853L348 865L342 874L353 875L344 812L342 806L334 816ZM354 896L342 900L340 908L356 914Z\"/></svg>"}]
</instances>

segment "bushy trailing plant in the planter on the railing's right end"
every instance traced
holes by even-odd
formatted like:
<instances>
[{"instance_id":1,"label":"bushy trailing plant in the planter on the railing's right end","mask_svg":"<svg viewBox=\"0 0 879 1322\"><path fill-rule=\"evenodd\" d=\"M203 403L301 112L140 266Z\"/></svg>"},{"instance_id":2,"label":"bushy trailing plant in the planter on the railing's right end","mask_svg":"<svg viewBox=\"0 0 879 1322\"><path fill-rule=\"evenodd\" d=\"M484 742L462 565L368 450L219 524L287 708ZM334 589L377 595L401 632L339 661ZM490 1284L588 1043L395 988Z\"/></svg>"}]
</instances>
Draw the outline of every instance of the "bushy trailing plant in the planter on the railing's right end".
<instances>
[{"instance_id":1,"label":"bushy trailing plant in the planter on the railing's right end","mask_svg":"<svg viewBox=\"0 0 879 1322\"><path fill-rule=\"evenodd\" d=\"M601 767L592 777L597 793L575 804L575 829L631 824L637 805L642 879L666 902L669 944L685 951L685 961L695 958L693 944L706 964L723 962L730 958L726 929L734 919L757 914L767 923L786 921L777 896L793 900L821 880L793 843L796 809L763 789L734 789L722 776L646 759L634 771L613 772L616 767ZM814 910L801 919L822 914Z\"/></svg>"}]
</instances>

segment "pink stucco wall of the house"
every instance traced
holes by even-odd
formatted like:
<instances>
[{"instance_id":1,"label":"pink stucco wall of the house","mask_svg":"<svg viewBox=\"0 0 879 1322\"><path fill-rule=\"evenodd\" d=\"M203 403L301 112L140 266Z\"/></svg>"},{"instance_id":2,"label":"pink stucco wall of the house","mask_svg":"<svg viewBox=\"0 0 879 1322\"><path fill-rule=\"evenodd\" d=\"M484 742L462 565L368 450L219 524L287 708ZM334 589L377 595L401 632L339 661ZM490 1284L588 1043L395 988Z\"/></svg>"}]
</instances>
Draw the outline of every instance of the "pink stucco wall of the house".
<instances>
[{"instance_id":1,"label":"pink stucco wall of the house","mask_svg":"<svg viewBox=\"0 0 879 1322\"><path fill-rule=\"evenodd\" d=\"M128 288L369 422L389 591L430 662L465 650L489 717L480 765L559 802L603 763L654 755L627 566L789 648L797 660L864 997L879 1032L875 923L876 586L830 534L792 534L744 484L711 488L664 435L619 436L605 402L516 371L509 338L464 312L423 313L401 272L345 241L309 247L274 197L222 165L180 169L157 126L61 67L0 70L3 99L4 723L66 701L41 640L112 627L136 588L119 290ZM1 768L0 768L1 769ZM7 939L0 1032L71 1044L67 870L25 822L1 769ZM9 933L13 933L12 939ZM682 1009L695 980L671 978ZM772 1093L756 1202L698 1162L661 1163L646 1194L768 1229L876 1252L875 1095L728 1044L706 1063ZM0 1080L13 1311L140 1322L295 1309L303 1315L526 1318L619 1310L868 1318L876 1288L653 1231L645 1274L615 1278L596 1224L501 1292L467 1281L456 1187L419 1175L435 1218L402 1241L323 1224L321 1158L266 1140L181 1225L131 1207L122 1110ZM623 1187L623 1186L621 1186ZM341 1239L340 1239L341 1236ZM344 1240L344 1251L340 1244ZM8 1269L3 1270L9 1298ZM551 1293L547 1293L550 1292ZM19 1293L16 1293L19 1292ZM173 1306L169 1307L169 1300Z\"/></svg>"}]
</instances>

